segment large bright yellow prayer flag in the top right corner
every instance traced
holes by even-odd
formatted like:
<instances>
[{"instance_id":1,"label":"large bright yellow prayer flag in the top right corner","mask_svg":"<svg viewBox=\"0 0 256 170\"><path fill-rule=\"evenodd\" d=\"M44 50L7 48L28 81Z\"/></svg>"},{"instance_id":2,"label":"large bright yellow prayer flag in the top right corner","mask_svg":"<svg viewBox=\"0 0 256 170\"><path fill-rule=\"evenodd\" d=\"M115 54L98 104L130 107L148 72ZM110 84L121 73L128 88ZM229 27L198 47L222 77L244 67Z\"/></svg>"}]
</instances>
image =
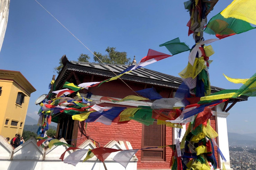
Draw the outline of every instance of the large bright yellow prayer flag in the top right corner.
<instances>
[{"instance_id":1,"label":"large bright yellow prayer flag in the top right corner","mask_svg":"<svg viewBox=\"0 0 256 170\"><path fill-rule=\"evenodd\" d=\"M224 18L235 18L256 24L256 1L234 0L221 13Z\"/></svg>"}]
</instances>

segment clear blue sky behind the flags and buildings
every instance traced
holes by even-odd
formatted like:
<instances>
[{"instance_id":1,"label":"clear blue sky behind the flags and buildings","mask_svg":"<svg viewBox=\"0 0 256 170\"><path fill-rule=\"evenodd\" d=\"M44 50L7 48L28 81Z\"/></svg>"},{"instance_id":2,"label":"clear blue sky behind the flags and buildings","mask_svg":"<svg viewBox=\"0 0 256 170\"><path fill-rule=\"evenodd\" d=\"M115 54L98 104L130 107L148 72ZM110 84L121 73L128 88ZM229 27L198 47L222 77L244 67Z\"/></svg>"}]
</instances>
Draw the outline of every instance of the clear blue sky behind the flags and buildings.
<instances>
[{"instance_id":1,"label":"clear blue sky behind the flags and buildings","mask_svg":"<svg viewBox=\"0 0 256 170\"><path fill-rule=\"evenodd\" d=\"M189 47L194 45L188 37L189 13L183 1L140 0L140 1L63 1L44 0L41 3L67 29L81 40L92 52L105 54L105 49L116 47L119 52L127 52L128 57L136 56L137 62L147 55L148 49L170 54L159 44L179 37ZM208 15L221 12L232 1L219 1ZM215 54L210 65L210 81L213 86L238 89L242 84L234 84L231 78L250 78L255 73L255 35L251 30L212 43ZM215 36L204 34L205 39ZM52 16L33 0L11 0L9 21L0 53L0 69L20 71L37 89L31 94L28 115L38 118L39 106L34 104L37 97L49 92L48 84L58 66L59 58L66 54L76 61L81 54L92 54ZM179 77L178 73L188 63L188 52L166 58L146 66L148 69ZM228 131L255 133L256 98L237 103L228 116Z\"/></svg>"}]
</instances>

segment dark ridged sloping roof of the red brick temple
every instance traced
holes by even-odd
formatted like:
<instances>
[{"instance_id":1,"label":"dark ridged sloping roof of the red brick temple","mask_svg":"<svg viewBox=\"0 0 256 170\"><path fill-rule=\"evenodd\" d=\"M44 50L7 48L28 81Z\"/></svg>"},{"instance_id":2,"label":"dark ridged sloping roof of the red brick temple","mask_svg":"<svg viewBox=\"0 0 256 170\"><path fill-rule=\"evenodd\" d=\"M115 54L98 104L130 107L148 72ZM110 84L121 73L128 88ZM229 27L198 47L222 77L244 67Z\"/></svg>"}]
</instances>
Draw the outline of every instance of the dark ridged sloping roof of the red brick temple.
<instances>
[{"instance_id":1,"label":"dark ridged sloping roof of the red brick temple","mask_svg":"<svg viewBox=\"0 0 256 170\"><path fill-rule=\"evenodd\" d=\"M92 75L99 75L102 77L106 77L106 79L115 77L129 65L123 64L100 64L100 63L87 63L87 62L76 62L76 61L68 61L66 55L62 56L63 67L60 71L56 82L56 89L59 90L62 88L66 79L70 75L72 71L82 72ZM115 74L114 74L114 73ZM161 72L157 72L154 70L149 70L144 67L140 67L139 69L133 70L130 73L124 74L121 77L123 80L132 81L132 82L140 82L151 84L155 86L169 87L178 89L180 84L183 82L181 78L175 77L173 75L164 74ZM211 86L211 92L217 92L223 90L222 88ZM240 96L236 99L230 99L229 102L236 101L245 101L247 100L247 96Z\"/></svg>"}]
</instances>

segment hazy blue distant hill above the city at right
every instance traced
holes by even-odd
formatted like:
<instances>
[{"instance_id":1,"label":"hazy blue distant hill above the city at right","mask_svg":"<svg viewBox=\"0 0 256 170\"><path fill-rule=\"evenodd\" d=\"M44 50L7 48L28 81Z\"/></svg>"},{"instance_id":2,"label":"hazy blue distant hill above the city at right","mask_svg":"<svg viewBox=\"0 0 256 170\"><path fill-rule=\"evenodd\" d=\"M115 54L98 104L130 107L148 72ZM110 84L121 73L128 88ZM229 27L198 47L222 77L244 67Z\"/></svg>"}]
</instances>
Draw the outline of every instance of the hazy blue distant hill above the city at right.
<instances>
[{"instance_id":1,"label":"hazy blue distant hill above the city at right","mask_svg":"<svg viewBox=\"0 0 256 170\"><path fill-rule=\"evenodd\" d=\"M230 146L256 146L256 133L238 134L228 132Z\"/></svg>"}]
</instances>

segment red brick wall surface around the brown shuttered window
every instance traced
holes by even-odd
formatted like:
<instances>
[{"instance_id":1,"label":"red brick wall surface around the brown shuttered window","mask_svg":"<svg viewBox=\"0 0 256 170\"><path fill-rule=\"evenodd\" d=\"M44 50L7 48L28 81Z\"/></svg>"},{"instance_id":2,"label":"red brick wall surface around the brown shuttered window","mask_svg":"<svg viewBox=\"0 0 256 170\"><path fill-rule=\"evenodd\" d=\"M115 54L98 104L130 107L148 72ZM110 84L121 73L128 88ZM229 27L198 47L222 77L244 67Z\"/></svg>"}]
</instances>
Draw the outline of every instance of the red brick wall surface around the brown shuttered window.
<instances>
[{"instance_id":1,"label":"red brick wall surface around the brown shuttered window","mask_svg":"<svg viewBox=\"0 0 256 170\"><path fill-rule=\"evenodd\" d=\"M88 123L87 134L94 140L100 142L100 146L104 147L111 140L129 141L133 149L141 148L142 139L142 124L130 121L126 124L112 123L111 126L102 123ZM172 128L166 127L166 145L172 145ZM78 132L78 137L83 137L81 132ZM85 139L78 139L77 146L81 145ZM136 154L138 158L138 169L168 169L170 166L172 150L169 147L165 148L166 161L141 161L141 151Z\"/></svg>"}]
</instances>

